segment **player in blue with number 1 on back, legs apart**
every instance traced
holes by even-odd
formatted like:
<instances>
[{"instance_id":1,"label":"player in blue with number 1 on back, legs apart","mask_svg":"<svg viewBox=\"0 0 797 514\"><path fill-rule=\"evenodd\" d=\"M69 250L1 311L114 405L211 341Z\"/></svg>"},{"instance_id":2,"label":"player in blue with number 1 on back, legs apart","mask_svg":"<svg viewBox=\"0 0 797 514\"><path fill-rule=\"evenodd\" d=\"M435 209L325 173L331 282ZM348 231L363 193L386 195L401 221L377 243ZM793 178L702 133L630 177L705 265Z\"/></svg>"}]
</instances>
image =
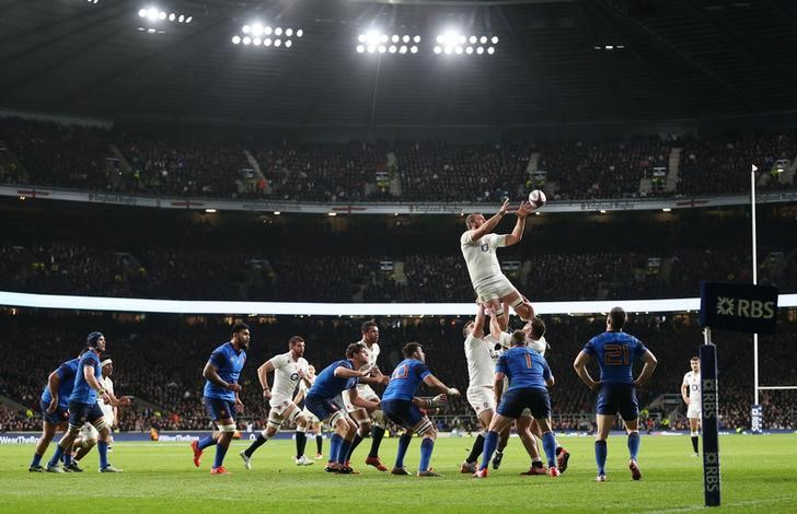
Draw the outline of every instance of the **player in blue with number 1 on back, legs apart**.
<instances>
[{"instance_id":1,"label":"player in blue with number 1 on back, legs apart","mask_svg":"<svg viewBox=\"0 0 797 514\"><path fill-rule=\"evenodd\" d=\"M484 442L482 465L473 476L487 477L487 466L498 445L498 434L520 418L523 409L528 408L542 431L542 445L548 460L548 474L558 477L556 437L548 423L551 398L546 388L554 385L554 376L545 358L525 346L525 334L522 330L512 334L511 343L511 348L498 358L496 364L494 387L498 408ZM509 388L501 398L505 376L509 378Z\"/></svg>"}]
</instances>

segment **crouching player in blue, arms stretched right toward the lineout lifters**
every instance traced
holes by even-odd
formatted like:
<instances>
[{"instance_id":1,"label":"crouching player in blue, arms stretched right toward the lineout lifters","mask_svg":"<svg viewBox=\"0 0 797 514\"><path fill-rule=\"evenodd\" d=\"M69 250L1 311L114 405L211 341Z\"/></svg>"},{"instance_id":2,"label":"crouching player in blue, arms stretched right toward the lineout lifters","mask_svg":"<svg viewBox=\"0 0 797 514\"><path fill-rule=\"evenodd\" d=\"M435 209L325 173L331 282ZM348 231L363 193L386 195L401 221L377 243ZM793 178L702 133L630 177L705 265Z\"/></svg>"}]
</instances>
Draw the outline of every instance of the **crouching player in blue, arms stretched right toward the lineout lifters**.
<instances>
[{"instance_id":1,"label":"crouching player in blue, arms stretched right toward the lineout lifters","mask_svg":"<svg viewBox=\"0 0 797 514\"><path fill-rule=\"evenodd\" d=\"M404 435L399 439L399 452L391 472L393 475L411 475L404 467L404 456L413 440L413 433L417 433L424 437L420 443L418 477L439 477L429 467L437 430L435 430L435 424L429 418L420 412L416 405L420 400L414 399L414 395L421 382L444 395L459 396L460 392L453 387L448 387L431 374L429 369L426 367L426 355L420 344L408 342L404 346L403 352L404 360L393 370L388 388L382 395L382 411L388 419L406 429ZM439 401L442 398L437 399ZM432 407L431 405L427 406Z\"/></svg>"}]
</instances>

